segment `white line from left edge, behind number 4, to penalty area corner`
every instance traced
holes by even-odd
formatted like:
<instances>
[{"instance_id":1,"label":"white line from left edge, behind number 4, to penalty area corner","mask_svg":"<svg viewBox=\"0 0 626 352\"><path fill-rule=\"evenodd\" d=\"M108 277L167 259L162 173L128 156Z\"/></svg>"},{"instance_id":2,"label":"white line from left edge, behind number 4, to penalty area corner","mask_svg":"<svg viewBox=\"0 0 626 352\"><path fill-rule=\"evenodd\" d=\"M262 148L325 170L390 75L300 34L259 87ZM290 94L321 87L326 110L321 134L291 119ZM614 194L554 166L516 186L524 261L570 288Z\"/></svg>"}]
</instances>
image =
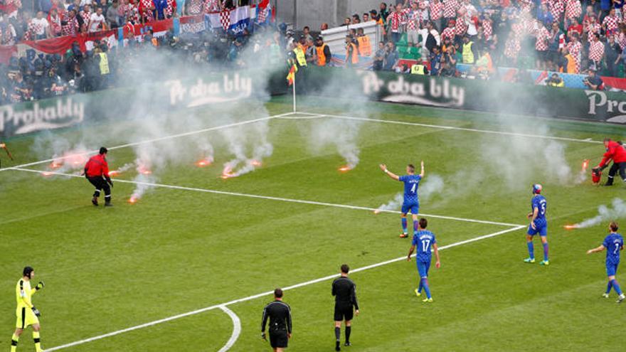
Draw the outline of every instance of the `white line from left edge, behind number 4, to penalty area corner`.
<instances>
[{"instance_id":1,"label":"white line from left edge, behind number 4, to penalty area corner","mask_svg":"<svg viewBox=\"0 0 626 352\"><path fill-rule=\"evenodd\" d=\"M46 176L68 176L68 177L77 177L83 178L84 176L80 176L77 174L65 174L62 172L55 171L42 171L42 170L33 170L33 169L22 169L18 167L14 167L15 171L26 171L32 172L35 174L44 174ZM194 191L194 192L203 192L203 193L213 193L213 194L221 194L225 196L238 196L238 197L247 197L247 198L258 198L258 199L267 199L270 201L282 201L289 203L300 203L300 204L310 204L314 206L330 206L334 208L346 208L346 209L356 209L356 210L368 210L368 211L380 211L381 213L394 213L399 214L400 212L397 210L378 210L376 208L368 208L364 206L349 206L347 204L336 204L336 203L325 203L325 202L316 202L316 201L304 201L302 199L292 199L292 198L281 198L281 197L272 197L272 196L260 196L258 194L249 194L249 193L238 193L238 192L227 192L227 191L218 191L215 189L208 188L195 188L195 187L185 187L185 186L174 186L174 185L166 185L161 183L150 183L150 182L140 182L140 181L128 181L128 180L120 180L119 178L115 178L115 182L119 183L132 183L136 185L149 186L154 188L169 188L169 189L177 189L181 191ZM445 220L457 220L464 221L466 223L482 223L489 225L502 225L502 226L522 226L519 224L511 224L511 223L500 223L497 221L488 221L488 220L477 220L477 219L468 219L468 218L456 218L454 216L445 216L445 215L433 215L433 214L425 214L420 213L419 215L426 216L429 218L438 218Z\"/></svg>"}]
</instances>

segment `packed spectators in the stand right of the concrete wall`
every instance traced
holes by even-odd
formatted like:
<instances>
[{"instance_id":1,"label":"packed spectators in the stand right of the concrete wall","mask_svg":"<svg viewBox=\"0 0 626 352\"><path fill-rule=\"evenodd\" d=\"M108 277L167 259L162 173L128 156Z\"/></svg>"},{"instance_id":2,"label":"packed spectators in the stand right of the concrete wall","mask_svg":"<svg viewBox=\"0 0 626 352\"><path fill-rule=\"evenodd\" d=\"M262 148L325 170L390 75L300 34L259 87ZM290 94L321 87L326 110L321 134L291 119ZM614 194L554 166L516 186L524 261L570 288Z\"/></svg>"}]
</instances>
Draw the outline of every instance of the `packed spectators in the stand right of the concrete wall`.
<instances>
[{"instance_id":1,"label":"packed spectators in the stand right of the concrete wall","mask_svg":"<svg viewBox=\"0 0 626 352\"><path fill-rule=\"evenodd\" d=\"M376 21L384 41L375 70L460 75L456 65L484 79L497 67L624 78L626 0L397 0L345 18L344 25ZM359 46L358 35L348 41ZM348 43L346 41L346 43ZM410 68L396 47L418 48ZM346 47L350 49L350 44ZM421 67L428 63L430 70ZM621 68L621 69L620 69ZM520 70L521 71L521 70Z\"/></svg>"}]
</instances>

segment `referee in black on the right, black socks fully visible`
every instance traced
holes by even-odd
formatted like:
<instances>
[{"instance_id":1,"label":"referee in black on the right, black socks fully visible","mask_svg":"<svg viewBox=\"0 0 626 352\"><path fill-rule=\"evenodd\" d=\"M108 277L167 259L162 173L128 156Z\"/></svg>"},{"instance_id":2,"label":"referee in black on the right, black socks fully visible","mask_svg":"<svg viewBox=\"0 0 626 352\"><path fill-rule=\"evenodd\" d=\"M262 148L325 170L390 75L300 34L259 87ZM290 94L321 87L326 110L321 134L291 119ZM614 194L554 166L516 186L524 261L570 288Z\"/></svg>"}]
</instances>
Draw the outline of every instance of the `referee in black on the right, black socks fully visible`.
<instances>
[{"instance_id":1,"label":"referee in black on the right, black socks fully visible","mask_svg":"<svg viewBox=\"0 0 626 352\"><path fill-rule=\"evenodd\" d=\"M347 264L341 265L341 277L333 281L332 294L335 297L335 351L341 351L341 321L346 321L346 343L350 346L350 333L352 332L352 307L354 314L359 315L359 302L356 300L356 284L348 277L350 267Z\"/></svg>"}]
</instances>

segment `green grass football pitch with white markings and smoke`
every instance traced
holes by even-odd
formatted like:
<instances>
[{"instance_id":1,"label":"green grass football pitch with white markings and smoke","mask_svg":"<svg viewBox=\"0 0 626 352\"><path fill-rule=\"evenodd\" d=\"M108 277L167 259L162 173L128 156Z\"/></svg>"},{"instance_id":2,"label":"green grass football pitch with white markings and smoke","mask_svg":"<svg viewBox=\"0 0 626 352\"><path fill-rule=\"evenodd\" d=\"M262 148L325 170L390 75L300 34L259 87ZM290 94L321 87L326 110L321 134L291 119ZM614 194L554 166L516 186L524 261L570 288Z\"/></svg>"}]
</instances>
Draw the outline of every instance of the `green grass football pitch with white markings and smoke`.
<instances>
[{"instance_id":1,"label":"green grass football pitch with white markings and smoke","mask_svg":"<svg viewBox=\"0 0 626 352\"><path fill-rule=\"evenodd\" d=\"M275 287L292 307L287 351L332 351L331 281L343 263L361 314L353 346L342 351L623 348L626 306L614 292L600 297L604 254L585 255L607 224L563 225L623 198L621 181L595 186L581 164L598 164L603 138L626 137L624 127L381 102L354 109L316 97L298 105L293 112L290 97L273 97L229 119L219 110L179 112L194 123L152 139L104 133L113 122L9 139L16 160L3 156L0 169L6 348L15 283L31 265L35 281L46 282L33 297L46 351L270 351L260 321ZM271 156L223 177L233 138L265 132ZM213 145L211 165L197 164L199 137ZM109 147L112 170L134 163L142 145L179 155L147 178L124 169L114 178L115 206L95 208L83 164L51 168L45 147L59 140ZM345 172L344 144L359 159ZM420 213L442 250L442 266L430 270L433 304L413 293L418 274L405 260L410 240L398 238L399 206L374 213L402 191L378 164L404 174L421 160L420 187L430 191ZM548 199L548 267L522 261L532 183ZM129 203L138 187L147 191ZM541 260L539 239L535 253ZM626 287L622 273L617 280ZM31 350L27 331L18 351Z\"/></svg>"}]
</instances>

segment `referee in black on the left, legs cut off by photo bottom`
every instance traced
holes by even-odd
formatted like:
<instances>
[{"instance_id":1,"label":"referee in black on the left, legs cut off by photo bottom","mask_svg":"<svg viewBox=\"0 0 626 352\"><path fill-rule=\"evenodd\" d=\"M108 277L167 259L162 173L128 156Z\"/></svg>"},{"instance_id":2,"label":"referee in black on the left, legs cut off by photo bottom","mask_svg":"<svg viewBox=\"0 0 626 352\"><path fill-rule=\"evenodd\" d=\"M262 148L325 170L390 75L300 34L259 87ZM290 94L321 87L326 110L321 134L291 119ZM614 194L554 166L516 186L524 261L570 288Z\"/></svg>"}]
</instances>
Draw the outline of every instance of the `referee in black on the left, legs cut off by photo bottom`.
<instances>
[{"instance_id":1,"label":"referee in black on the left, legs cut off by photo bottom","mask_svg":"<svg viewBox=\"0 0 626 352\"><path fill-rule=\"evenodd\" d=\"M261 337L265 339L265 323L270 319L270 346L274 352L282 352L287 348L287 341L291 338L291 307L282 302L282 289L274 290L274 302L270 302L263 309L261 323Z\"/></svg>"}]
</instances>

